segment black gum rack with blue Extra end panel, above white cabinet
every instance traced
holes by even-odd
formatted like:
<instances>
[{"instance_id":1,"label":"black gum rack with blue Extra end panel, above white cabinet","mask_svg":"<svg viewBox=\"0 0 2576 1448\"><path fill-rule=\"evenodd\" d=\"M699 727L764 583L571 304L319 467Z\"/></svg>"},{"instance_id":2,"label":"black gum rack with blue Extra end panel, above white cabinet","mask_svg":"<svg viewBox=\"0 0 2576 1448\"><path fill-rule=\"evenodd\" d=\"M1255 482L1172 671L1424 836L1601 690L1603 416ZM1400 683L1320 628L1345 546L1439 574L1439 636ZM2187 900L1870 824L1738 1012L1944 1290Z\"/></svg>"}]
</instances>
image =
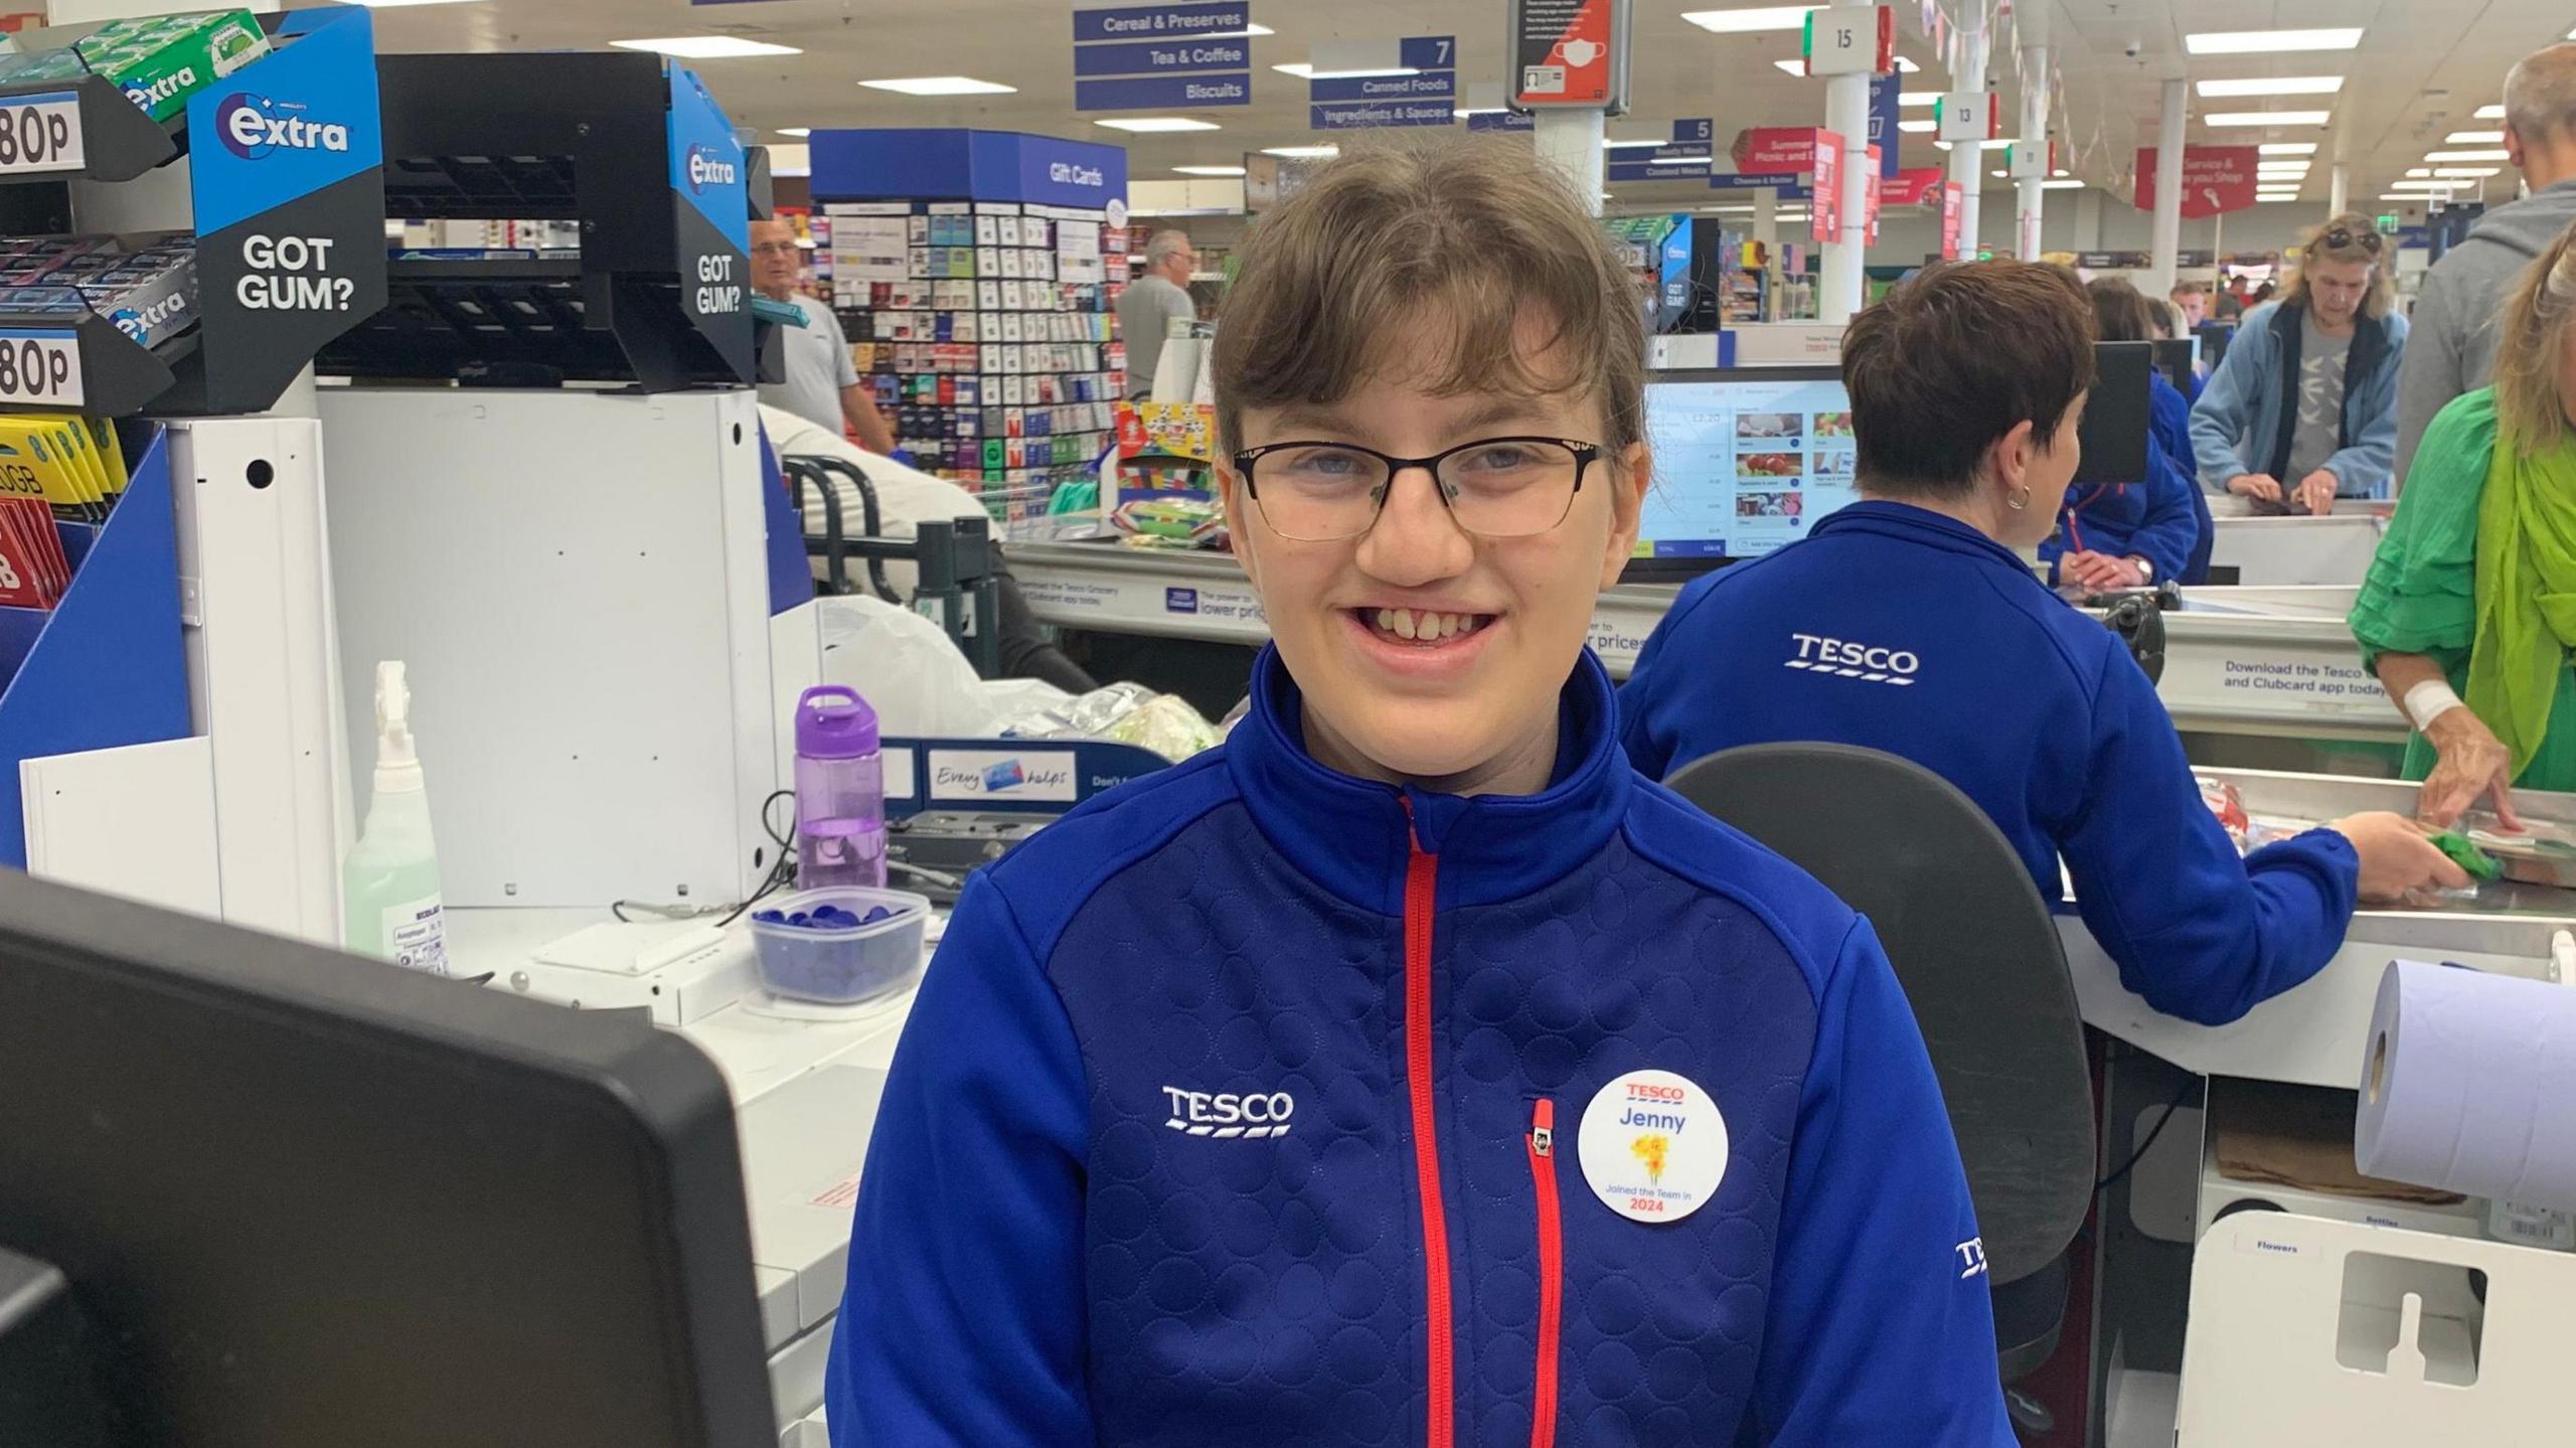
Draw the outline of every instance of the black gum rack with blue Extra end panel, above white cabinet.
<instances>
[{"instance_id":1,"label":"black gum rack with blue Extra end panel, above white cabinet","mask_svg":"<svg viewBox=\"0 0 2576 1448\"><path fill-rule=\"evenodd\" d=\"M402 255L335 376L647 392L757 376L750 216L765 178L706 85L649 54L389 54L379 222L567 222L569 252ZM474 95L474 106L459 106Z\"/></svg>"}]
</instances>

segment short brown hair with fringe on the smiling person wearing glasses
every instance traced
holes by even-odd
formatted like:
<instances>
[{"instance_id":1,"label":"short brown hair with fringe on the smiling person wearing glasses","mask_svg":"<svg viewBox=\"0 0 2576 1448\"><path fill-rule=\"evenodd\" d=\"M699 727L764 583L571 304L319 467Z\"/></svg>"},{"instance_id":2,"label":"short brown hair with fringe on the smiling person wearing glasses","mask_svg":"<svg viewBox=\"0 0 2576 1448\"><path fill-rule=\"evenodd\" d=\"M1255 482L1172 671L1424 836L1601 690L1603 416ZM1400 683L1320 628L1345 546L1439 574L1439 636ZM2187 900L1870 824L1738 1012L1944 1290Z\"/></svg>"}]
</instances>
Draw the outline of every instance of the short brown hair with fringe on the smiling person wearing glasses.
<instances>
[{"instance_id":1,"label":"short brown hair with fringe on the smiling person wearing glasses","mask_svg":"<svg viewBox=\"0 0 2576 1448\"><path fill-rule=\"evenodd\" d=\"M1244 240L1216 327L1216 433L1350 397L1432 332L1432 392L1595 394L1602 448L1646 430L1646 301L1553 167L1502 137L1381 142L1319 167ZM1517 345L1548 327L1548 368ZM1440 335L1445 332L1445 335Z\"/></svg>"}]
</instances>

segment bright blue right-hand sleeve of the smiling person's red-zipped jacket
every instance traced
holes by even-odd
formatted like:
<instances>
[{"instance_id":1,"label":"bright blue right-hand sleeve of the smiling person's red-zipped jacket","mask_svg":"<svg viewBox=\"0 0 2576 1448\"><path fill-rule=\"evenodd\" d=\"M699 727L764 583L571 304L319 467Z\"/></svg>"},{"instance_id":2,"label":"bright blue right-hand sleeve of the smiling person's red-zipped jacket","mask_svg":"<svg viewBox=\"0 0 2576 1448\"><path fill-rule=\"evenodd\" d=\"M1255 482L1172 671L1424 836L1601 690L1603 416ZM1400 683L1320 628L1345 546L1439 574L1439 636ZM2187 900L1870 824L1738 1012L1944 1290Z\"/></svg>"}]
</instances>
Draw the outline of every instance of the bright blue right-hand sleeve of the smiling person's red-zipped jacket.
<instances>
[{"instance_id":1,"label":"bright blue right-hand sleeve of the smiling person's red-zipped jacket","mask_svg":"<svg viewBox=\"0 0 2576 1448\"><path fill-rule=\"evenodd\" d=\"M1870 925L1826 976L1739 1448L2012 1448L1950 1113Z\"/></svg>"}]
</instances>

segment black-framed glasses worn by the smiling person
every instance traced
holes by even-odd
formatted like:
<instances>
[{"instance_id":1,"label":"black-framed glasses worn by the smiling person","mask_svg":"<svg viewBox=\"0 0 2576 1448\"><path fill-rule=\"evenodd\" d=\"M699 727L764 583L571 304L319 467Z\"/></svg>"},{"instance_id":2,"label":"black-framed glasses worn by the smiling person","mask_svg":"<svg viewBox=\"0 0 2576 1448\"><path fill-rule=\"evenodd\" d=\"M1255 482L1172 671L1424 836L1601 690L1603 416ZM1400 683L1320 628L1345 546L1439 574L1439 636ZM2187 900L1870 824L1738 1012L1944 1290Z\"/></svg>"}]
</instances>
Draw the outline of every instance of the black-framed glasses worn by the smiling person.
<instances>
[{"instance_id":1,"label":"black-framed glasses worn by the smiling person","mask_svg":"<svg viewBox=\"0 0 2576 1448\"><path fill-rule=\"evenodd\" d=\"M1358 443L1262 443L1234 453L1244 492L1283 538L1332 544L1378 523L1396 474L1425 469L1440 502L1479 538L1546 533L1574 510L1600 443L1574 438L1476 438L1427 459L1399 459Z\"/></svg>"}]
</instances>

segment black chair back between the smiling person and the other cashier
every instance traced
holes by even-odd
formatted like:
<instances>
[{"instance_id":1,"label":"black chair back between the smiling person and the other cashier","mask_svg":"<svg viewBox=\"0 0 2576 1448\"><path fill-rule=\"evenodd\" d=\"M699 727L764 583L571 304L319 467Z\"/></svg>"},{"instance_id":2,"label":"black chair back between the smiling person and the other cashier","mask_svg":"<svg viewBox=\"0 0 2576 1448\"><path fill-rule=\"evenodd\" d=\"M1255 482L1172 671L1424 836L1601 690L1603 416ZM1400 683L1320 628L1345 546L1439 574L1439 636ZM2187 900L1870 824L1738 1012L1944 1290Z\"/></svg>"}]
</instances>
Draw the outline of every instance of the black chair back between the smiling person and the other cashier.
<instances>
[{"instance_id":1,"label":"black chair back between the smiling person and the other cashier","mask_svg":"<svg viewBox=\"0 0 2576 1448\"><path fill-rule=\"evenodd\" d=\"M1747 745L1669 783L1870 917L1968 1167L2002 1381L2035 1373L2066 1322L2094 1121L2066 953L2022 858L1950 781L1878 750ZM2020 1427L2045 1427L2040 1404L2009 1396Z\"/></svg>"}]
</instances>

